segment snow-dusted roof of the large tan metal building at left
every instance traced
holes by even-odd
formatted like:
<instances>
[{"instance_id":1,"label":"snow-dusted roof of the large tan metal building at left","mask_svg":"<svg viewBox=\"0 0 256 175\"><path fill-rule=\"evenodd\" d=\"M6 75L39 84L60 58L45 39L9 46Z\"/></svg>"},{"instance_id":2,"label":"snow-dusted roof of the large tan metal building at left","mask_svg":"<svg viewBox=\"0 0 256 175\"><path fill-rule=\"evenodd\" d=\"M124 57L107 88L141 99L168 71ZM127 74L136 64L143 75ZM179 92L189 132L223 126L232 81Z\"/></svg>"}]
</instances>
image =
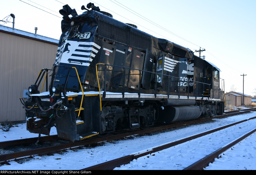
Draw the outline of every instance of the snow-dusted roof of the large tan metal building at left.
<instances>
[{"instance_id":1,"label":"snow-dusted roof of the large tan metal building at left","mask_svg":"<svg viewBox=\"0 0 256 175\"><path fill-rule=\"evenodd\" d=\"M14 35L27 36L27 37L31 37L31 38L39 39L42 41L51 42L51 43L57 43L57 44L59 43L58 39L49 38L49 37L42 36L42 35L35 35L34 33L26 32L26 31L18 30L18 29L14 29L14 32L13 32L13 28L7 27L4 25L0 25L0 32L3 32L3 31L8 32L10 34L13 33Z\"/></svg>"}]
</instances>

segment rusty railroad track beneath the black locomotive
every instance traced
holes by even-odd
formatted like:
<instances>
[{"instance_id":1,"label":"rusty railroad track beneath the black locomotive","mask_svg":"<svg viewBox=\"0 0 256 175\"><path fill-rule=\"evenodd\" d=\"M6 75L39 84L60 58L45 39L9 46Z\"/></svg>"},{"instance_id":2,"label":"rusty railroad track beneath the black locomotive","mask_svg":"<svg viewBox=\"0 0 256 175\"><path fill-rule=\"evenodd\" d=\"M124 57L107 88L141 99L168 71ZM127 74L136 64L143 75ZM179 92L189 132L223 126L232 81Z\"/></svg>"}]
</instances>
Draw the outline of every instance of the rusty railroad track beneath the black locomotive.
<instances>
[{"instance_id":1,"label":"rusty railroad track beneath the black locomotive","mask_svg":"<svg viewBox=\"0 0 256 175\"><path fill-rule=\"evenodd\" d=\"M243 112L238 112L238 113L232 113L232 114L225 114L222 116L216 116L212 118L222 118L222 117L227 117L230 115L237 115L240 113L244 112L250 112L250 111L255 111L256 109L252 110L245 110ZM241 111L241 110L240 110ZM24 157L30 157L33 158L35 155L43 155L43 154L54 154L56 152L60 151L66 151L67 149L75 148L75 147L88 147L88 145L97 145L101 142L105 141L112 141L112 140L118 140L122 139L125 137L130 137L134 135L143 135L143 134L148 134L156 131L161 131L164 132L163 130L169 129L169 128L175 128L183 125L189 125L189 124L195 124L198 122L205 122L207 120L211 120L212 118L205 118L201 120L194 120L194 121L188 121L188 122L182 122L182 123L176 123L172 125L165 125L165 126L160 126L156 128L150 128L146 130L140 130L140 131L134 131L134 132L129 132L129 133L122 133L122 134L117 134L114 136L107 136L104 138L95 138L91 140L84 140L84 141L79 141L79 142L68 142L60 145L54 145L54 146L46 146L46 147L40 147L36 149L31 149L31 150L26 150L26 151L20 151L20 152L14 152L14 153L8 153L8 154L2 154L0 155L0 163L2 164L8 164L9 161L11 160L17 160L19 158L24 158ZM8 146L13 146L19 142L19 144L25 144L25 143L35 143L38 138L30 138L30 139L21 139L21 140L16 140L16 141L7 141L7 142L0 142L1 148L5 148ZM58 139L57 136L45 136L41 137L40 141L49 141L49 140L56 140Z\"/></svg>"}]
</instances>

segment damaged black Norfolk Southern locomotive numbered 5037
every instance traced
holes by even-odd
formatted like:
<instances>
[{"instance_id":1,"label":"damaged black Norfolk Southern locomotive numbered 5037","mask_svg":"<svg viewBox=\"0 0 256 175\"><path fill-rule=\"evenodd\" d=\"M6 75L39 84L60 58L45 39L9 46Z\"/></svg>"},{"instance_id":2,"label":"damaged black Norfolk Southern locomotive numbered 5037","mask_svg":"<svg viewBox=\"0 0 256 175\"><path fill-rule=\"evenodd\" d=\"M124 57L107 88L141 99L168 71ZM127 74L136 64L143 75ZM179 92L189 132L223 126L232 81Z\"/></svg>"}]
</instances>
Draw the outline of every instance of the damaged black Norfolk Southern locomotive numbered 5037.
<instances>
[{"instance_id":1,"label":"damaged black Norfolk Southern locomotive numbered 5037","mask_svg":"<svg viewBox=\"0 0 256 175\"><path fill-rule=\"evenodd\" d=\"M217 66L115 20L93 3L81 9L80 15L68 5L59 10L62 34L55 63L40 71L22 102L28 131L49 135L55 126L59 138L74 142L223 114ZM40 93L44 75L46 92Z\"/></svg>"}]
</instances>

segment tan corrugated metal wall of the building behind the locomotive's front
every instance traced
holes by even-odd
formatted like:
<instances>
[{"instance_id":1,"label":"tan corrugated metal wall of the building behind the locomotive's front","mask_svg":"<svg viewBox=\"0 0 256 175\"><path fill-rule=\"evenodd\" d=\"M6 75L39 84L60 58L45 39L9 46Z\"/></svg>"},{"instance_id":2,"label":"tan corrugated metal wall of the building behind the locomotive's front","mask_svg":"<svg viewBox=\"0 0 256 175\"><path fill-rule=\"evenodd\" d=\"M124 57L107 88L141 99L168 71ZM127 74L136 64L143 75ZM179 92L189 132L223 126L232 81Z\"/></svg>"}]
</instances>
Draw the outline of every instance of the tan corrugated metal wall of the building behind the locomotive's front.
<instances>
[{"instance_id":1,"label":"tan corrugated metal wall of the building behind the locomotive's front","mask_svg":"<svg viewBox=\"0 0 256 175\"><path fill-rule=\"evenodd\" d=\"M51 69L57 48L56 44L0 32L0 122L26 120L19 98L35 83L41 69Z\"/></svg>"}]
</instances>

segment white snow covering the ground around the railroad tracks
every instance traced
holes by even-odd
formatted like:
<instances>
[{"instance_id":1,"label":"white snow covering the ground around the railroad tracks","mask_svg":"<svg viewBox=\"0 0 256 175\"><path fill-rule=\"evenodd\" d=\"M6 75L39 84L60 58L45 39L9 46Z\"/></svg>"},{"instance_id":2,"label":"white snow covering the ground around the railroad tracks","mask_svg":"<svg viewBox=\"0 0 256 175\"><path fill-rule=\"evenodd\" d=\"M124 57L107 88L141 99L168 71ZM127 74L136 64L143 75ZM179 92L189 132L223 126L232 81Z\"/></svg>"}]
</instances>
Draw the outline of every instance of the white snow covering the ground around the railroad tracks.
<instances>
[{"instance_id":1,"label":"white snow covering the ground around the railroad tracks","mask_svg":"<svg viewBox=\"0 0 256 175\"><path fill-rule=\"evenodd\" d=\"M103 146L88 147L86 149L68 150L62 154L53 156L36 156L35 159L27 159L22 163L10 161L11 165L0 166L0 170L79 170L105 161L116 159L125 155L143 152L157 145L173 142L198 132L214 129L242 119L256 116L256 112L250 112L223 119L212 119L206 124L196 124L178 130L155 134L153 136L133 137L119 141L105 142ZM0 142L38 137L38 134L29 133L26 124L18 124L8 132L0 130ZM197 160L203 158L211 151L219 149L233 139L256 127L256 119L243 124L217 131L207 136L185 142L175 147L153 153L133 160L128 165L116 167L115 170L182 170ZM56 134L53 127L51 134ZM216 159L205 170L254 170L256 169L256 134L241 141L228 150L222 158Z\"/></svg>"}]
</instances>

